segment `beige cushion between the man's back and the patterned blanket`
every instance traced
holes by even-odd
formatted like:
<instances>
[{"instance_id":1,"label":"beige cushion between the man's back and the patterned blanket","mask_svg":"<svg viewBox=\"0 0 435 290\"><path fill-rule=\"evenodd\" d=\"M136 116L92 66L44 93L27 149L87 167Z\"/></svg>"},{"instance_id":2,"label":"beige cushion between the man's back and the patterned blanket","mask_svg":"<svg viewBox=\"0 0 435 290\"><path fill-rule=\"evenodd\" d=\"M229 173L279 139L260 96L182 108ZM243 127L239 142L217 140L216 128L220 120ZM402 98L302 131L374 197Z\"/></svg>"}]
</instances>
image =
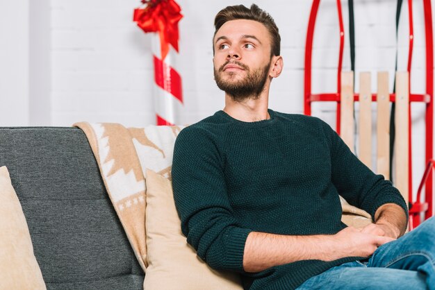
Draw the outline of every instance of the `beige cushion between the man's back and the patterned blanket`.
<instances>
[{"instance_id":1,"label":"beige cushion between the man's back and the patterned blanket","mask_svg":"<svg viewBox=\"0 0 435 290\"><path fill-rule=\"evenodd\" d=\"M220 273L196 255L181 233L181 221L167 178L147 170L147 259L144 289L243 289L233 273Z\"/></svg>"}]
</instances>

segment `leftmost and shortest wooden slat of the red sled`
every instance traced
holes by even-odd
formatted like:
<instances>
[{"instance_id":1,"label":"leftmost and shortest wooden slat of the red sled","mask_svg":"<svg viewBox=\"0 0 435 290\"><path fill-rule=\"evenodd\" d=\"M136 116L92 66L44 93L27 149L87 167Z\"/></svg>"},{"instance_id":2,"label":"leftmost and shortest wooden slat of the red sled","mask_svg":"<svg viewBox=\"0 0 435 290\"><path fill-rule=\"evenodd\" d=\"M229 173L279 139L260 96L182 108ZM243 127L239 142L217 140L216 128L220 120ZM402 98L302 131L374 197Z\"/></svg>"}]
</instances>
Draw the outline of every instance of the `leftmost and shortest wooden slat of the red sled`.
<instances>
[{"instance_id":1,"label":"leftmost and shortest wooden slat of the red sled","mask_svg":"<svg viewBox=\"0 0 435 290\"><path fill-rule=\"evenodd\" d=\"M354 152L354 73L343 71L341 73L341 112L340 133L341 138Z\"/></svg>"}]
</instances>

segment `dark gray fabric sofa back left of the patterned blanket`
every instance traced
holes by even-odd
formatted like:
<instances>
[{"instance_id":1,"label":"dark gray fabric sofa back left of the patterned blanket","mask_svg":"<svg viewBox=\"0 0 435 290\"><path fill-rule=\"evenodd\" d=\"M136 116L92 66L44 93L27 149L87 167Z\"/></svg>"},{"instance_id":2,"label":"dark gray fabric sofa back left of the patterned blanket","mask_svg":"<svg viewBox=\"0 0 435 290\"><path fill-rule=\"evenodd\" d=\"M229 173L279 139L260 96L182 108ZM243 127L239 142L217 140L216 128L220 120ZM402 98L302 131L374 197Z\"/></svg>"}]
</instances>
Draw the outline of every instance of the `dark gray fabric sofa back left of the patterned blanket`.
<instances>
[{"instance_id":1,"label":"dark gray fabric sofa back left of the patterned blanket","mask_svg":"<svg viewBox=\"0 0 435 290\"><path fill-rule=\"evenodd\" d=\"M140 268L78 128L0 128L47 289L142 289Z\"/></svg>"}]
</instances>

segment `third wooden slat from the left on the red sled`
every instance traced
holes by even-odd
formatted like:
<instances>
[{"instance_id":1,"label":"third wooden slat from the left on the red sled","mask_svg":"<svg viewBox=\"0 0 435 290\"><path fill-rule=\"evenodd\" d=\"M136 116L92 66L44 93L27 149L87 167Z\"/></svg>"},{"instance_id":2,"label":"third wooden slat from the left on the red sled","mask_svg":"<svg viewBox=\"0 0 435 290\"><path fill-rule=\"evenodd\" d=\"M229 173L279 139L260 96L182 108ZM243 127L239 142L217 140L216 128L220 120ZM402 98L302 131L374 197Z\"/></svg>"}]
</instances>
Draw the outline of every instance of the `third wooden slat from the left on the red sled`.
<instances>
[{"instance_id":1,"label":"third wooden slat from the left on the red sled","mask_svg":"<svg viewBox=\"0 0 435 290\"><path fill-rule=\"evenodd\" d=\"M387 71L377 73L377 173L390 179L390 93Z\"/></svg>"}]
</instances>

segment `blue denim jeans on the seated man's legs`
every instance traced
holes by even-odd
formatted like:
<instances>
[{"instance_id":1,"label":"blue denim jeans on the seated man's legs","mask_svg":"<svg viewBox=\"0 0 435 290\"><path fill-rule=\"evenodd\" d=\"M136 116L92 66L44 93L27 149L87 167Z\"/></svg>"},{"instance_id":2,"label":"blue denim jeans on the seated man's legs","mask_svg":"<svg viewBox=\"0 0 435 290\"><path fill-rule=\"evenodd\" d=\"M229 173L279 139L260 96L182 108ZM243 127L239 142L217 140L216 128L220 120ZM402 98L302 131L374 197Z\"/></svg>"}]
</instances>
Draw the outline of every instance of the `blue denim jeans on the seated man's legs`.
<instances>
[{"instance_id":1,"label":"blue denim jeans on the seated man's legs","mask_svg":"<svg viewBox=\"0 0 435 290\"><path fill-rule=\"evenodd\" d=\"M364 262L345 263L316 275L305 289L435 289L435 217L384 244Z\"/></svg>"}]
</instances>

